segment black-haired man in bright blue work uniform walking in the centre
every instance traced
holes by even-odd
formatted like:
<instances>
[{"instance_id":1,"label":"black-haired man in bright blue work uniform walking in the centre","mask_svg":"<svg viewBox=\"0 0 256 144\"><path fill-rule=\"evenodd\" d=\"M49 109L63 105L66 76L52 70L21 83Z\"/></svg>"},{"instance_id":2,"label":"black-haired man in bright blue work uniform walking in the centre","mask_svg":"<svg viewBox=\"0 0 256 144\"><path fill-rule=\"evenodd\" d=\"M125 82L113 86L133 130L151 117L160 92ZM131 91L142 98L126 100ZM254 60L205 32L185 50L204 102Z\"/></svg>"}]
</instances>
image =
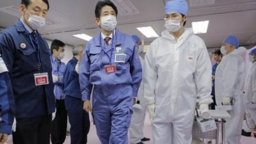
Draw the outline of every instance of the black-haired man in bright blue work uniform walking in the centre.
<instances>
[{"instance_id":1,"label":"black-haired man in bright blue work uniform walking in the centre","mask_svg":"<svg viewBox=\"0 0 256 144\"><path fill-rule=\"evenodd\" d=\"M102 144L127 144L132 99L136 102L141 65L131 36L116 29L117 8L99 1L95 21L101 32L88 42L79 72L84 110L93 112ZM90 94L93 89L92 106Z\"/></svg>"}]
</instances>

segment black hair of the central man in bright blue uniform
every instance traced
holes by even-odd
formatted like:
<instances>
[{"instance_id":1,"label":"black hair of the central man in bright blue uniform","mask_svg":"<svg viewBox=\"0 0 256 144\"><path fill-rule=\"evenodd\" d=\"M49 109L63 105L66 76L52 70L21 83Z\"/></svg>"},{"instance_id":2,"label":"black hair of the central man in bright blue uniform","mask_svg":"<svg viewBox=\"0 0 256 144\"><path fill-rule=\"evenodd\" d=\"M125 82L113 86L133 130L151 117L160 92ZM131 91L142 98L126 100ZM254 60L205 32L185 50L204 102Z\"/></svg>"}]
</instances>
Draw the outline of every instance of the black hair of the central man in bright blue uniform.
<instances>
[{"instance_id":1,"label":"black hair of the central man in bright blue uniform","mask_svg":"<svg viewBox=\"0 0 256 144\"><path fill-rule=\"evenodd\" d=\"M118 10L114 3L112 3L110 0L104 0L104 1L98 1L95 7L95 17L99 18L101 10L104 6L111 6L114 10L116 15L118 14Z\"/></svg>"}]
</instances>

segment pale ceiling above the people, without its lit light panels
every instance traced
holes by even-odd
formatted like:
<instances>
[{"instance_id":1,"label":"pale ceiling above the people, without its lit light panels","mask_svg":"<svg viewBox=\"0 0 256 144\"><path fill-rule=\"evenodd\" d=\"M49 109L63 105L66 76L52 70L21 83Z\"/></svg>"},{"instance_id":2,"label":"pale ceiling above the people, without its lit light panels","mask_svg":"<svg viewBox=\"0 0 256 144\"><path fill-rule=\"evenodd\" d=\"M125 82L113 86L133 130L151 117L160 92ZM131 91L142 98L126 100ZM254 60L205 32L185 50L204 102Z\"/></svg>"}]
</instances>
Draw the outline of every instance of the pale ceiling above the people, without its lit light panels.
<instances>
[{"instance_id":1,"label":"pale ceiling above the people, without its lit light panels","mask_svg":"<svg viewBox=\"0 0 256 144\"><path fill-rule=\"evenodd\" d=\"M154 38L145 38L136 29L137 27L152 26L157 34L161 35L161 31L164 30L164 0L116 1L131 1L139 11L134 15L118 15L118 28L121 31L141 36L146 44L150 44ZM188 0L190 1L195 3L211 0ZM57 38L66 44L76 45L84 44L86 41L72 35L86 33L95 36L99 33L99 28L94 22L97 0L49 0L49 3L50 10L47 15L49 24L40 29L40 33L45 38L49 40ZM0 1L1 27L6 28L19 19L20 15L17 9L15 10L19 8L19 4L20 0ZM13 6L16 14L3 10L8 6ZM186 27L191 27L191 22L197 20L210 20L207 34L199 35L205 40L207 47L219 47L227 35L236 35L241 45L256 44L256 0L215 0L214 4L190 6Z\"/></svg>"}]
</instances>

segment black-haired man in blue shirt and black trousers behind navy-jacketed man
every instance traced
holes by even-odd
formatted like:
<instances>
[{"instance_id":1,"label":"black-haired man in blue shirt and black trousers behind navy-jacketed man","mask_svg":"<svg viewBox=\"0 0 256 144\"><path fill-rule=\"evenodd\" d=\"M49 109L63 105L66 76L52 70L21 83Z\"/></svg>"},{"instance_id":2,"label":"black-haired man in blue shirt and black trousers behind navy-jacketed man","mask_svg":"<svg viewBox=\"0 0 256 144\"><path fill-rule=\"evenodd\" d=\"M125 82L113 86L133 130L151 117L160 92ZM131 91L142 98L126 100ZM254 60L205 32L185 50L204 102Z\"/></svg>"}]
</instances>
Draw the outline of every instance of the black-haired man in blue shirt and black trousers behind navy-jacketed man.
<instances>
[{"instance_id":1,"label":"black-haired man in blue shirt and black trousers behind navy-jacketed man","mask_svg":"<svg viewBox=\"0 0 256 144\"><path fill-rule=\"evenodd\" d=\"M63 85L63 74L65 72L66 65L61 61L65 56L64 52L65 44L60 40L53 40L51 44L51 62L54 96L56 99L56 114L52 121L52 144L64 143L67 131L67 111L65 108L65 93Z\"/></svg>"}]
</instances>

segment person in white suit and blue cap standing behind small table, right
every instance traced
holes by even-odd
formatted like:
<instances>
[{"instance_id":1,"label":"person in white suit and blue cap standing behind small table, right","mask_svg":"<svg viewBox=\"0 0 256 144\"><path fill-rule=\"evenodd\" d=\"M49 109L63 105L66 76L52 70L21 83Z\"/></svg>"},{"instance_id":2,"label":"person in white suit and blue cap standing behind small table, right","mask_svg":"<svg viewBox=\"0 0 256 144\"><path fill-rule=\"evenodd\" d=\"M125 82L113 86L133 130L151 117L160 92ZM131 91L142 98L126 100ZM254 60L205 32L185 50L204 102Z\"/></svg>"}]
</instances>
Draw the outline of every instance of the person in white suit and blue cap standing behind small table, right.
<instances>
[{"instance_id":1,"label":"person in white suit and blue cap standing behind small table, right","mask_svg":"<svg viewBox=\"0 0 256 144\"><path fill-rule=\"evenodd\" d=\"M215 74L215 98L217 106L232 105L228 111L231 118L227 119L226 144L239 144L245 111L244 103L244 79L245 61L243 54L246 49L239 47L236 36L227 36L221 47L221 53L225 55L216 69Z\"/></svg>"}]
</instances>

